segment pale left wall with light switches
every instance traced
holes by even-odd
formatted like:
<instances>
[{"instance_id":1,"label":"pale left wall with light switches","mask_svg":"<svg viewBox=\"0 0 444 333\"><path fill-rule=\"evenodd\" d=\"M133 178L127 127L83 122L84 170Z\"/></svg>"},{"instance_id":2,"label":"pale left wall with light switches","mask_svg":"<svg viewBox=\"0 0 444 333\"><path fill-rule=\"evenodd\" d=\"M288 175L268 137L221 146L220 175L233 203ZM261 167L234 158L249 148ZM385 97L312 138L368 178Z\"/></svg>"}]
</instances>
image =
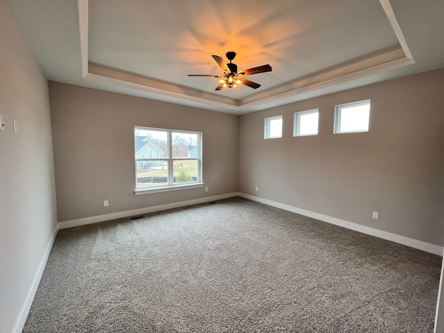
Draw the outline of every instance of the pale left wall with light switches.
<instances>
[{"instance_id":1,"label":"pale left wall with light switches","mask_svg":"<svg viewBox=\"0 0 444 333\"><path fill-rule=\"evenodd\" d=\"M0 73L0 332L12 332L57 220L48 83L4 1Z\"/></svg>"}]
</instances>

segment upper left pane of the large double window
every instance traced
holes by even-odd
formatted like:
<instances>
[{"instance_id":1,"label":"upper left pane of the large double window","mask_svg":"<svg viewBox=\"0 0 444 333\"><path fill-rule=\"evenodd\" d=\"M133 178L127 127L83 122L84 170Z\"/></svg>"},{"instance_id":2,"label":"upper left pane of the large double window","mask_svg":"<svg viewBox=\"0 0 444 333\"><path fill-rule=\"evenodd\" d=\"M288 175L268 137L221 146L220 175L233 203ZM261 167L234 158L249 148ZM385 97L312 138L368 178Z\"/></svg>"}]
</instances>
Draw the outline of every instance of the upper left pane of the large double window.
<instances>
[{"instance_id":1,"label":"upper left pane of the large double window","mask_svg":"<svg viewBox=\"0 0 444 333\"><path fill-rule=\"evenodd\" d=\"M135 128L136 159L168 158L168 132Z\"/></svg>"}]
</instances>

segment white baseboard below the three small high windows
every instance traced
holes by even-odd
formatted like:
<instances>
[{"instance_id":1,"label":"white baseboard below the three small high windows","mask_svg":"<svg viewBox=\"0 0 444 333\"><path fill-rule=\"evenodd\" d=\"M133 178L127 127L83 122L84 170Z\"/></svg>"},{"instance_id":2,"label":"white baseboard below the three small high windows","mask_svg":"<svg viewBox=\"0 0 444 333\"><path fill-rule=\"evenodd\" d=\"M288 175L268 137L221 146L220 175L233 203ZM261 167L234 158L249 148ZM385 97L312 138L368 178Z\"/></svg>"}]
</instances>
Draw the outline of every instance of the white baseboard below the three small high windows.
<instances>
[{"instance_id":1,"label":"white baseboard below the three small high windows","mask_svg":"<svg viewBox=\"0 0 444 333\"><path fill-rule=\"evenodd\" d=\"M441 257L443 256L444 248L442 246L429 244L429 243L426 243L425 241L418 241L417 239L411 239L408 237L400 236L399 234L392 234L391 232L386 232L383 230L366 227L365 225L360 225L357 223L352 223L349 221L336 219L332 216L327 216L327 215L318 214L315 212L310 212L309 210L302 210L301 208L298 208L298 207L285 205L283 203L277 203L272 200L258 198L257 196L250 196L249 194L238 193L238 196L241 196L242 198L250 199L253 201L257 201L258 203L265 203L266 205L278 207L282 210L288 210L289 212L301 214L304 216L309 216L313 219L321 220L321 221L324 221L327 223L332 223L334 225L339 225L340 227L343 227L343 228L348 228L351 230L362 232L364 234L370 234L371 236L386 239L388 241L394 241L395 243L410 246L411 248L417 248L418 250L423 250L428 253L434 253L435 255L441 255Z\"/></svg>"}]
</instances>

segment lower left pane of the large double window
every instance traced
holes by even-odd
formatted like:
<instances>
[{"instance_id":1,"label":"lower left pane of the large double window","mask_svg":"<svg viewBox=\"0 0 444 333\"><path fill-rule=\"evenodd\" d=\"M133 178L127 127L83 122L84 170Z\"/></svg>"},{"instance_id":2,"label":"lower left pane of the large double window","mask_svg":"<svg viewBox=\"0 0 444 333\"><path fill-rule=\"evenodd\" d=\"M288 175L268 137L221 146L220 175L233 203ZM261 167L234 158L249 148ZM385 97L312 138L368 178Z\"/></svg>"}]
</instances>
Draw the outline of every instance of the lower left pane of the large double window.
<instances>
[{"instance_id":1,"label":"lower left pane of the large double window","mask_svg":"<svg viewBox=\"0 0 444 333\"><path fill-rule=\"evenodd\" d=\"M137 188L168 185L168 161L137 161Z\"/></svg>"}]
</instances>

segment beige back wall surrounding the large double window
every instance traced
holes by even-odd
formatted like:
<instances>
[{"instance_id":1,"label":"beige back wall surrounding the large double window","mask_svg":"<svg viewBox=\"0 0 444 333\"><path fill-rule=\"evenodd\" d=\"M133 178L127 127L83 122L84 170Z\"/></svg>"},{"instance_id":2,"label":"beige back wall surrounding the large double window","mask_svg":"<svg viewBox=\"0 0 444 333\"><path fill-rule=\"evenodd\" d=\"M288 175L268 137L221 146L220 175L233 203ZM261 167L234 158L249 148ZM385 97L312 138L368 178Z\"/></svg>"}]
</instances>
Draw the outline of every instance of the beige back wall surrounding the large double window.
<instances>
[{"instance_id":1,"label":"beige back wall surrounding the large double window","mask_svg":"<svg viewBox=\"0 0 444 333\"><path fill-rule=\"evenodd\" d=\"M62 83L49 92L59 222L237 191L239 117ZM135 196L134 126L202 132L209 191Z\"/></svg>"}]
</instances>

